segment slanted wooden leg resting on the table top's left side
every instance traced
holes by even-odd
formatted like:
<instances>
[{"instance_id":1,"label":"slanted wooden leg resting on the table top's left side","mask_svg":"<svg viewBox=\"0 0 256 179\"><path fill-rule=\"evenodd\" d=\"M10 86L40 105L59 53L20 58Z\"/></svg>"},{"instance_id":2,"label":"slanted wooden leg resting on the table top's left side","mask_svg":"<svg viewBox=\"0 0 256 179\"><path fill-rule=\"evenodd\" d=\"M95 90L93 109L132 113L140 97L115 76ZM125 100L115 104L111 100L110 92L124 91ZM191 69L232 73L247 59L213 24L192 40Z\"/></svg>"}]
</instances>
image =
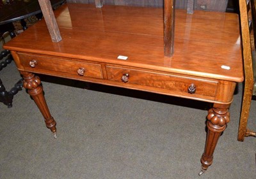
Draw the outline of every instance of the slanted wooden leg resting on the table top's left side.
<instances>
[{"instance_id":1,"label":"slanted wooden leg resting on the table top's left side","mask_svg":"<svg viewBox=\"0 0 256 179\"><path fill-rule=\"evenodd\" d=\"M54 42L61 41L60 30L56 22L56 18L54 17L54 13L52 11L51 1L41 0L41 1L38 1L38 3L40 4L52 41Z\"/></svg>"}]
</instances>

